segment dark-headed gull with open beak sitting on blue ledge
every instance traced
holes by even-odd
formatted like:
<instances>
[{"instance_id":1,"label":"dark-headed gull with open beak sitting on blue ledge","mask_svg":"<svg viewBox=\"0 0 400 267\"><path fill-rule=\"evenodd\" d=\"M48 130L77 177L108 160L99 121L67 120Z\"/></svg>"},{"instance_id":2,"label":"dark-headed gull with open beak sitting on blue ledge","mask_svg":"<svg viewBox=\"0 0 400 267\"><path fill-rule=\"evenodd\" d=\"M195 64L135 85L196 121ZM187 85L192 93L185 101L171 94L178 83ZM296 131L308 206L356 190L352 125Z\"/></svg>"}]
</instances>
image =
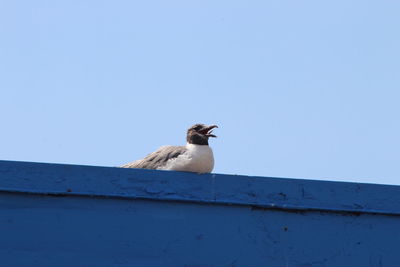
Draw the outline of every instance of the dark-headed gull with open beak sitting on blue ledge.
<instances>
[{"instance_id":1,"label":"dark-headed gull with open beak sitting on blue ledge","mask_svg":"<svg viewBox=\"0 0 400 267\"><path fill-rule=\"evenodd\" d=\"M162 146L145 158L121 167L210 173L214 155L208 138L217 137L212 134L214 128L218 126L195 124L187 130L186 146Z\"/></svg>"}]
</instances>

